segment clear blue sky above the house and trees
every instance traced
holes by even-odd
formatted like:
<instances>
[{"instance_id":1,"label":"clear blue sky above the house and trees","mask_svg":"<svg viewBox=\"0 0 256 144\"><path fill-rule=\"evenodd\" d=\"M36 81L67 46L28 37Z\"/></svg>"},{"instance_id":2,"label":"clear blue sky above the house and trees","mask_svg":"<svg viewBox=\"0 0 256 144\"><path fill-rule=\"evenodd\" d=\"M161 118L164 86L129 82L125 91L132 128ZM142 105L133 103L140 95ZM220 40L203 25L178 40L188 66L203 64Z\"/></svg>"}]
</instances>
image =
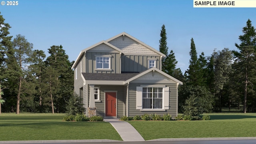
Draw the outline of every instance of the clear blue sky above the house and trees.
<instances>
[{"instance_id":1,"label":"clear blue sky above the house and trees","mask_svg":"<svg viewBox=\"0 0 256 144\"><path fill-rule=\"evenodd\" d=\"M18 6L0 5L0 12L11 36L25 36L47 56L50 46L61 44L70 61L121 32L159 50L164 24L169 52L183 73L191 38L198 55L210 56L214 48L236 50L248 19L256 26L256 8L193 8L193 0L18 0Z\"/></svg>"}]
</instances>

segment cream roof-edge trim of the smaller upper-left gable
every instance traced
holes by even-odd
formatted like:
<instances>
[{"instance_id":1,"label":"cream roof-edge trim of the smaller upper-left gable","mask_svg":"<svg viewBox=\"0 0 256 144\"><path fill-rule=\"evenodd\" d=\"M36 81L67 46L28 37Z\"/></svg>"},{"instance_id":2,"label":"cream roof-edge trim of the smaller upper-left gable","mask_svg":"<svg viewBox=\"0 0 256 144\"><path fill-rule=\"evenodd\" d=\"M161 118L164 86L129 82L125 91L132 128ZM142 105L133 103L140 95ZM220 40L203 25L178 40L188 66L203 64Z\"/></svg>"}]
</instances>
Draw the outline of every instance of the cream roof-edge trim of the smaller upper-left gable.
<instances>
[{"instance_id":1,"label":"cream roof-edge trim of the smaller upper-left gable","mask_svg":"<svg viewBox=\"0 0 256 144\"><path fill-rule=\"evenodd\" d=\"M76 67L76 65L78 64L78 61L80 60L80 58L82 58L82 56L84 55L84 53L86 53L86 51L88 51L88 50L90 50L90 49L92 49L92 48L94 48L94 47L96 47L96 46L98 46L98 45L100 45L100 44L106 44L107 46L113 48L114 50L117 50L118 52L121 52L121 53L125 54L123 50L120 50L120 49L117 48L116 46L113 46L112 44L106 42L105 40L102 40L102 41L100 41L100 42L98 42L98 43L96 43L96 44L94 44L94 45L92 45L92 46L90 46L90 47L85 48L84 50L82 50L82 51L80 52L80 54L78 55L78 57L76 58L76 61L75 61L75 63L73 64L73 66L72 66L71 69L73 69L73 68Z\"/></svg>"}]
</instances>

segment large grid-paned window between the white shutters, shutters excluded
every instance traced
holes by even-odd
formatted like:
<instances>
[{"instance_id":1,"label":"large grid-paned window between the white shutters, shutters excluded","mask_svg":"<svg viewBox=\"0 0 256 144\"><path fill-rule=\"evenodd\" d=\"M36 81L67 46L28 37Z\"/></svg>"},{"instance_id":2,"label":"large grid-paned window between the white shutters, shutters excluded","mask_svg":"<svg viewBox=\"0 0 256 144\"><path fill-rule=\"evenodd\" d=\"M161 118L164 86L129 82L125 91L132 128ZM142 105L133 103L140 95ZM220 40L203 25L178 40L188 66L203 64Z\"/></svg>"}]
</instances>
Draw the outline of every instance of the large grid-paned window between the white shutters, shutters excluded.
<instances>
[{"instance_id":1,"label":"large grid-paned window between the white shutters, shutters excluded","mask_svg":"<svg viewBox=\"0 0 256 144\"><path fill-rule=\"evenodd\" d=\"M163 88L142 88L142 108L162 109Z\"/></svg>"}]
</instances>

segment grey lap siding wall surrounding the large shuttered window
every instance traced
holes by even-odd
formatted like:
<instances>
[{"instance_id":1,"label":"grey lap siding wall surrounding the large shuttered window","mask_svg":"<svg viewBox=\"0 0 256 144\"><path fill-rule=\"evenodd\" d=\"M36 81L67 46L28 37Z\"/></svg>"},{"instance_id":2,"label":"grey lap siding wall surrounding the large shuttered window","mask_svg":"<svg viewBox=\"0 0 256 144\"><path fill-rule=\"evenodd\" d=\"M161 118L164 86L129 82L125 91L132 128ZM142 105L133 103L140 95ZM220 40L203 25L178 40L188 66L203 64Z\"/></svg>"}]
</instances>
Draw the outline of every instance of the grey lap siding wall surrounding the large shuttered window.
<instances>
[{"instance_id":1,"label":"grey lap siding wall surrounding the large shuttered window","mask_svg":"<svg viewBox=\"0 0 256 144\"><path fill-rule=\"evenodd\" d=\"M140 115L142 116L143 114L171 114L173 117L176 116L176 111L177 111L177 97L176 97L176 92L177 92L177 85L176 84L159 84L159 85L166 85L170 87L169 90L169 110L166 110L166 112L140 112L140 110L136 110L136 86L140 85L145 85L145 84L138 84L138 83L130 83L129 86L129 116L136 116ZM148 85L156 85L156 84L148 84Z\"/></svg>"}]
</instances>

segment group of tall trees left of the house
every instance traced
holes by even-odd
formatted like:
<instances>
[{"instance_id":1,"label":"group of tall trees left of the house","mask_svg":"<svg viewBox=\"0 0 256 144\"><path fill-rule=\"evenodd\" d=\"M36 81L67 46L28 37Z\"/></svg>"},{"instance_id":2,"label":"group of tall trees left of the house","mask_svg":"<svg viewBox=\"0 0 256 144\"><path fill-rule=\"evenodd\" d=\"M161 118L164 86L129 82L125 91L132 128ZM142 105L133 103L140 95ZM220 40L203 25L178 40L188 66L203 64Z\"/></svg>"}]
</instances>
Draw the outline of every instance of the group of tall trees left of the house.
<instances>
[{"instance_id":1,"label":"group of tall trees left of the house","mask_svg":"<svg viewBox=\"0 0 256 144\"><path fill-rule=\"evenodd\" d=\"M74 96L74 72L62 45L50 46L46 58L25 36L12 40L10 28L0 15L0 114L66 112Z\"/></svg>"}]
</instances>

